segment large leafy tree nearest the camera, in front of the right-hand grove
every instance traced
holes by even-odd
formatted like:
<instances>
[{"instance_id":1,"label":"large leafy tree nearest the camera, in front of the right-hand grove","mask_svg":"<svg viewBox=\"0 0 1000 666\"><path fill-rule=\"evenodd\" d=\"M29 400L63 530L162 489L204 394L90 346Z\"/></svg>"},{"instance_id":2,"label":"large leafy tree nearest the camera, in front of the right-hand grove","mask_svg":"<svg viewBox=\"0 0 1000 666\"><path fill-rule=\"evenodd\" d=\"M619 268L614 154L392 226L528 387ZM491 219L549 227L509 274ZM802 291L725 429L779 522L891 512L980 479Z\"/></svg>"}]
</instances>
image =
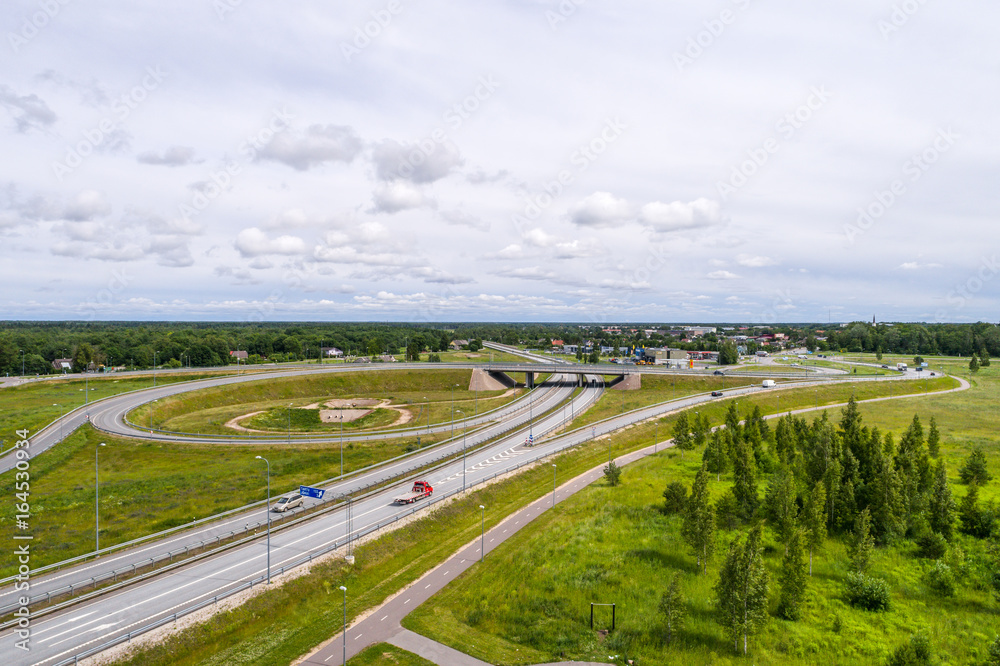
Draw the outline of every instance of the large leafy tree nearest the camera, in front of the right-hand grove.
<instances>
[{"instance_id":1,"label":"large leafy tree nearest the camera, in front of the right-hand grove","mask_svg":"<svg viewBox=\"0 0 1000 666\"><path fill-rule=\"evenodd\" d=\"M762 531L763 526L757 523L744 542L739 537L733 539L715 585L719 624L729 631L736 652L743 637L743 654L747 653L749 637L767 621L768 575L761 548Z\"/></svg>"}]
</instances>

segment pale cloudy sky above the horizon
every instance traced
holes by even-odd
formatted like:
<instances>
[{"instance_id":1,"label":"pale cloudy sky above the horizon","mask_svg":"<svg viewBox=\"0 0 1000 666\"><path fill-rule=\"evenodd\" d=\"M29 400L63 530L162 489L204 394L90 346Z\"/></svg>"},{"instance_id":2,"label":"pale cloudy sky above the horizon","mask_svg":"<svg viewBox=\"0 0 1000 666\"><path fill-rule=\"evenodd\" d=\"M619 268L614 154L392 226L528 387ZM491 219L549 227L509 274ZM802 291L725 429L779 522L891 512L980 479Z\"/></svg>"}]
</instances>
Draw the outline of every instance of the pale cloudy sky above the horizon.
<instances>
[{"instance_id":1,"label":"pale cloudy sky above the horizon","mask_svg":"<svg viewBox=\"0 0 1000 666\"><path fill-rule=\"evenodd\" d=\"M5 0L0 319L997 321L997 25Z\"/></svg>"}]
</instances>

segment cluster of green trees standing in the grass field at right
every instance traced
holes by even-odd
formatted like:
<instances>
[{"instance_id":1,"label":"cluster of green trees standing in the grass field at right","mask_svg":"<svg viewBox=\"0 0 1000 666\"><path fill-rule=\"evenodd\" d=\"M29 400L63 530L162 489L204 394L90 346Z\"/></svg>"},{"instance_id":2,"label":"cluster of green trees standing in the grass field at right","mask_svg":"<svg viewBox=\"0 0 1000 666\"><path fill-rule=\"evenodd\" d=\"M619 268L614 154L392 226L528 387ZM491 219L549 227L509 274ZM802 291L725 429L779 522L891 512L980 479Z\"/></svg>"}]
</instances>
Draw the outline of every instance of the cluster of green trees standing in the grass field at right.
<instances>
[{"instance_id":1,"label":"cluster of green trees standing in the grass field at right","mask_svg":"<svg viewBox=\"0 0 1000 666\"><path fill-rule=\"evenodd\" d=\"M811 424L786 415L772 429L757 407L741 421L735 403L729 405L726 427L710 435L707 424L694 421L692 426L688 419L678 419L674 441L682 452L705 441L701 468L690 493L675 481L663 496L667 511L681 516L681 535L700 574L709 571L716 530L746 526L746 533L730 543L715 585L719 622L734 649L742 643L744 653L768 619L765 526L783 547L776 612L787 620L801 617L813 556L828 536L847 543L852 571L846 598L860 608L882 611L889 608L891 595L886 582L869 573L877 547L912 540L922 556L938 560L930 587L947 591L950 586L953 593L952 572L942 558L956 531L980 539L994 532L998 512L978 495L992 478L985 453L973 448L959 470L968 490L956 503L939 457L940 433L933 418L925 433L914 415L898 442L891 433L864 425L853 398L837 424L825 413ZM731 489L713 502L709 476L730 472ZM1000 548L995 552L1000 567ZM992 575L988 584L1000 600L1000 575ZM683 623L683 595L675 581L660 608L670 640Z\"/></svg>"}]
</instances>

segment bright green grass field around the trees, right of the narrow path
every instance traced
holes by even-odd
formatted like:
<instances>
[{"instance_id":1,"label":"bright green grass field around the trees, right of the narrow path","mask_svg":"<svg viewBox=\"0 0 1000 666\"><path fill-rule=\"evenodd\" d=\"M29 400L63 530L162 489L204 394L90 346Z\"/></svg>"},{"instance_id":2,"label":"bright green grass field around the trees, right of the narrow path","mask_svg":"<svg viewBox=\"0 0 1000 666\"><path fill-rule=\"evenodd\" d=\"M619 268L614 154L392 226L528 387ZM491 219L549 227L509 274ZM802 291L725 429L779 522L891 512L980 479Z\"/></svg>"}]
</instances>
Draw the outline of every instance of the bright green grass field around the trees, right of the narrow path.
<instances>
[{"instance_id":1,"label":"bright green grass field around the trees, right of the narrow path","mask_svg":"<svg viewBox=\"0 0 1000 666\"><path fill-rule=\"evenodd\" d=\"M988 447L996 475L1000 446L994 435L995 412L982 407L997 404L1000 382L987 373L976 382L975 391L932 400L862 405L865 422L899 432L914 413L925 427L934 414L953 484L972 443ZM948 411L952 417L945 420ZM831 417L839 417L839 411ZM618 488L594 484L536 519L491 553L489 566L470 569L412 613L404 626L497 664L562 658L606 662L615 654L638 658L644 666L748 663L733 655L732 643L714 620L712 586L732 533L718 535L709 575L696 575L694 558L680 537L680 518L660 510L666 484L690 484L698 465L700 456L682 461L670 451L627 467ZM713 498L729 485L725 478L722 483L713 479ZM998 484L991 485L989 495L995 496ZM953 493L958 499L965 489L953 485ZM970 565L981 560L982 542L960 537L958 543ZM894 607L873 614L843 600L848 559L842 542L829 539L815 560L803 619L772 618L752 641L749 663L883 663L888 652L917 631L928 634L941 663L981 661L998 626L995 602L971 574L954 599L934 596L924 582L930 562L916 557L914 550L909 543L878 549L873 572L889 582ZM771 537L766 560L772 610L780 559L781 547ZM667 647L657 604L673 571L683 574L689 620L678 642ZM591 602L618 604L618 628L606 639L589 629ZM605 611L598 615L595 629L609 621Z\"/></svg>"}]
</instances>

